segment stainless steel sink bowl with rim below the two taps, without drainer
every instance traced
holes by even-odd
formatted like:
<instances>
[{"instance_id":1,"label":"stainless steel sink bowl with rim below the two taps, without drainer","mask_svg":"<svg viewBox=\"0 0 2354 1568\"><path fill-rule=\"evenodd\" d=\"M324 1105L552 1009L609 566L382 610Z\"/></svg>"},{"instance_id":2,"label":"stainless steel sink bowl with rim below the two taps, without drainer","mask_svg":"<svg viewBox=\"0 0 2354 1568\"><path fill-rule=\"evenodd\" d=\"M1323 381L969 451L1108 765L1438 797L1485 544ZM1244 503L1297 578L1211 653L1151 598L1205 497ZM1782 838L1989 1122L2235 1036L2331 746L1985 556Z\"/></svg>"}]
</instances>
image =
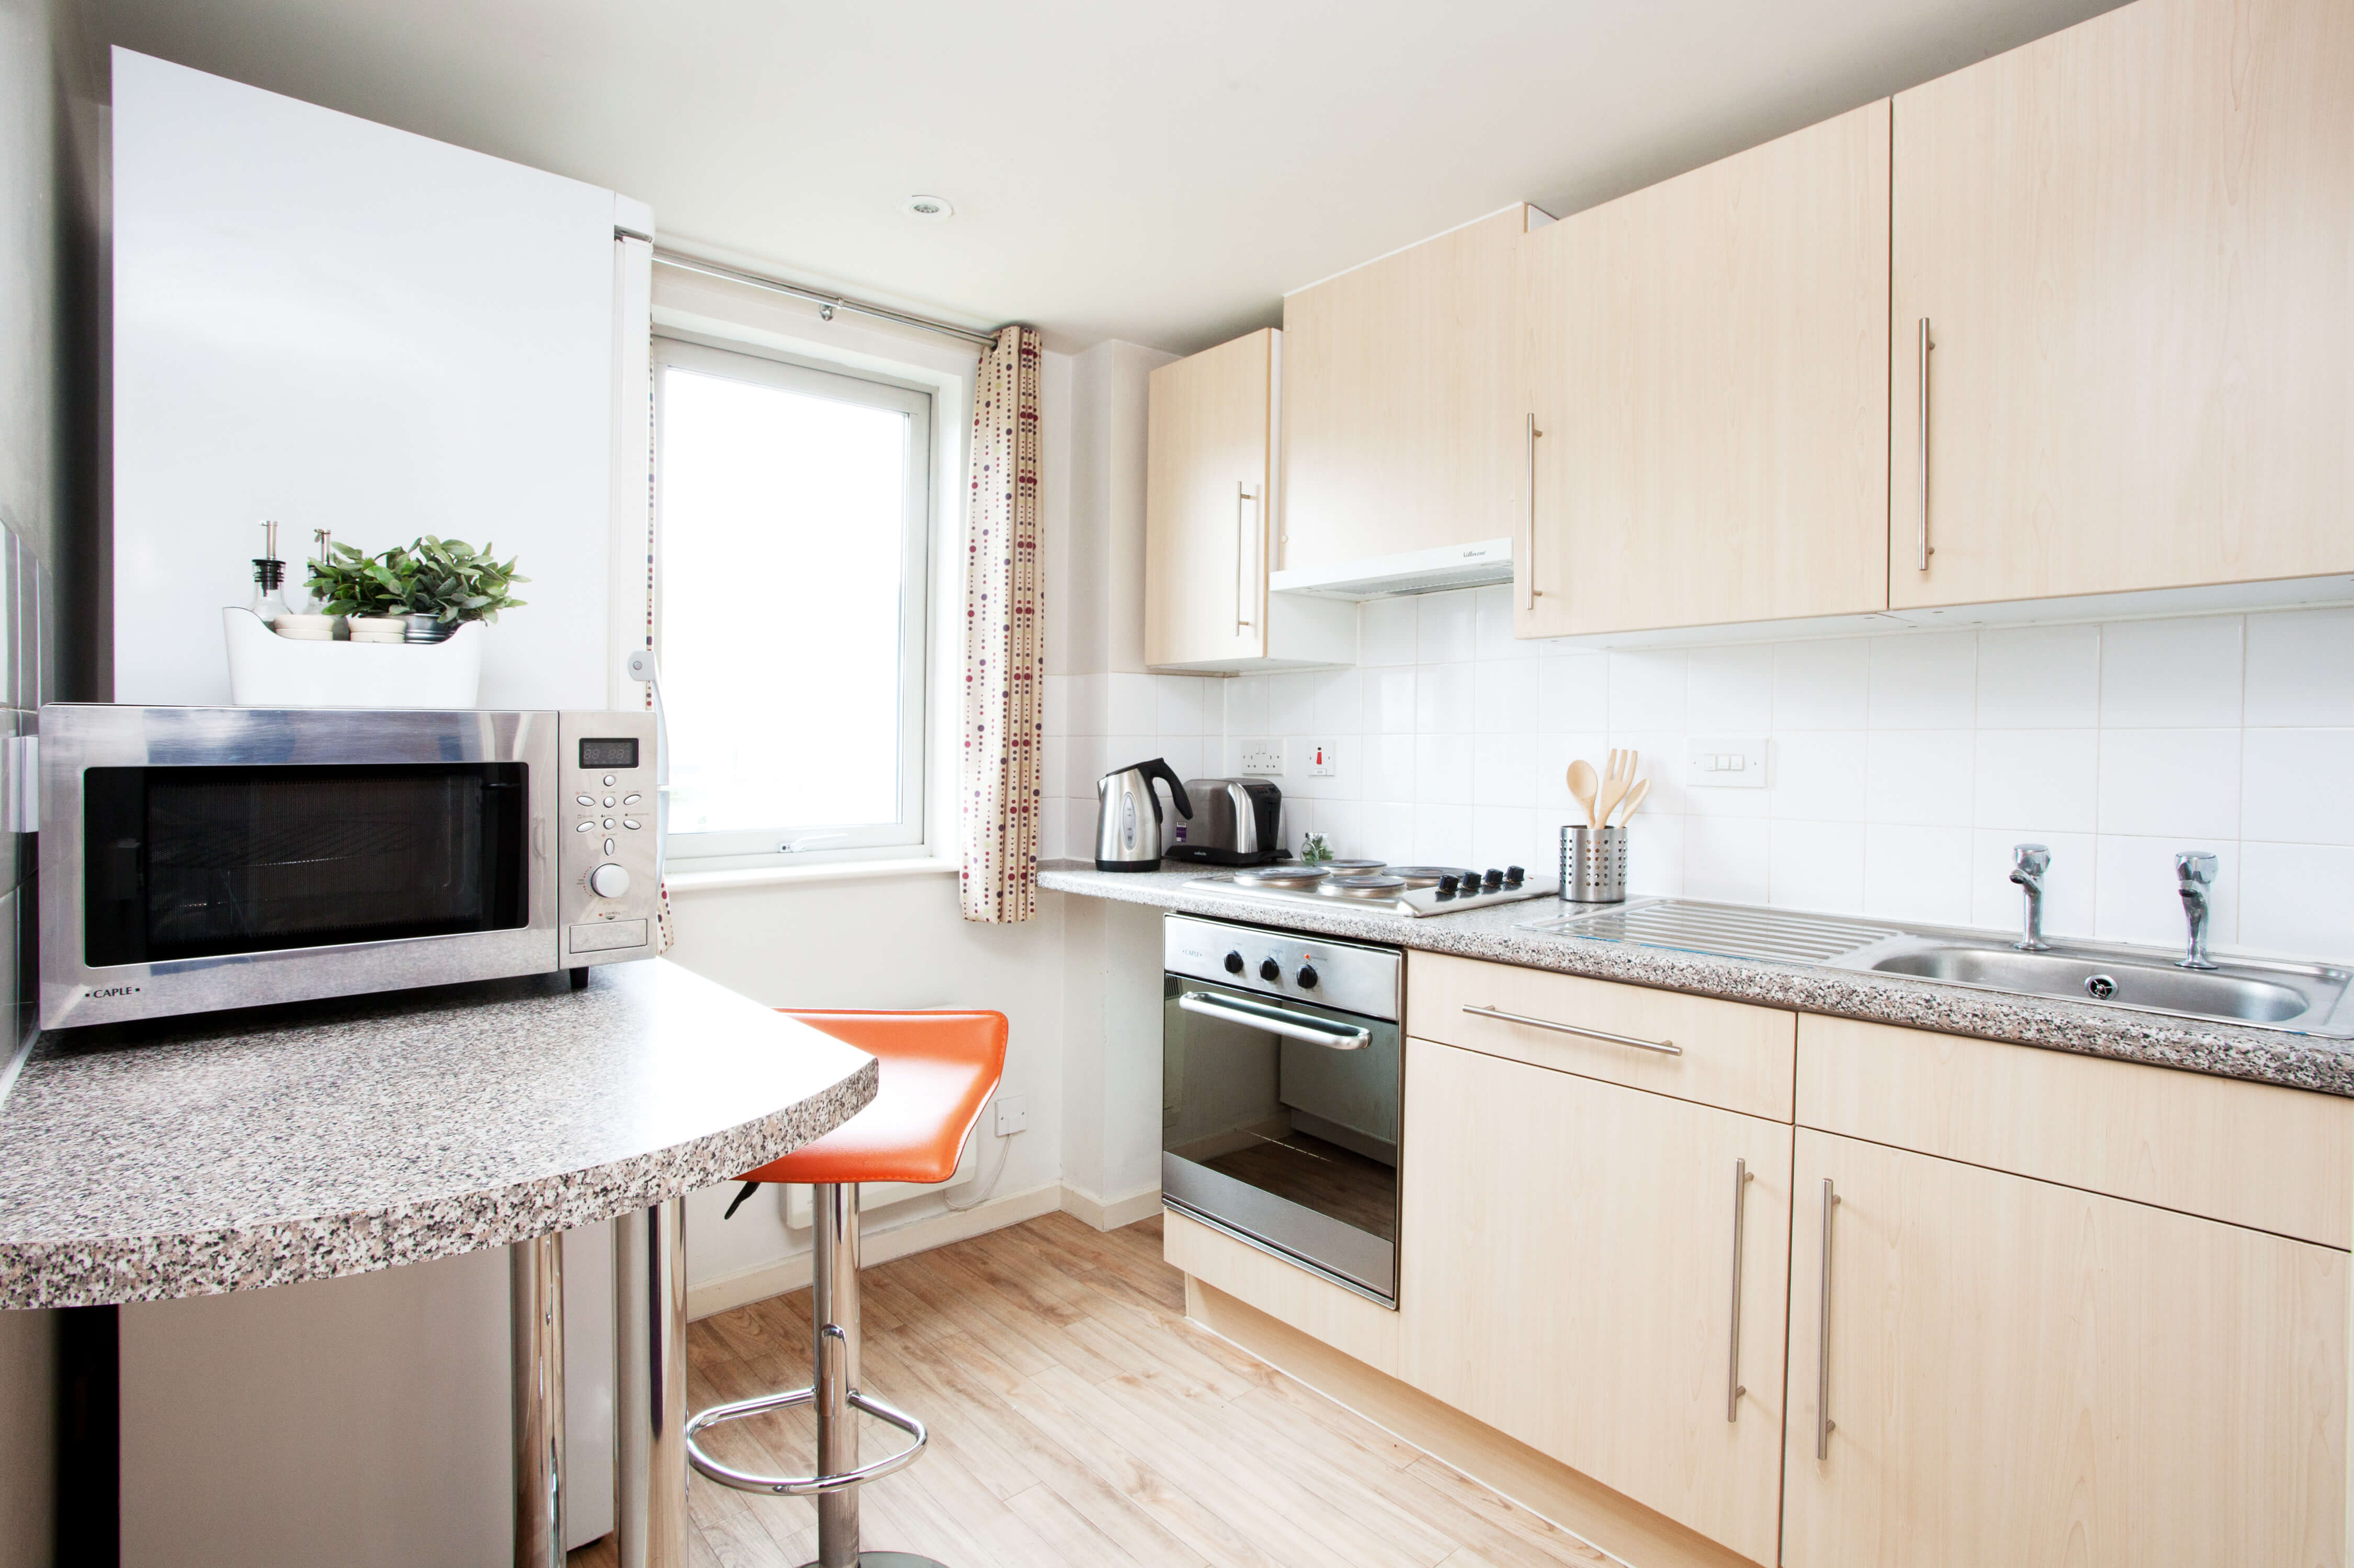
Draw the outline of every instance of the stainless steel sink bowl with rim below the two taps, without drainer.
<instances>
[{"instance_id":1,"label":"stainless steel sink bowl with rim below the two taps, without drainer","mask_svg":"<svg viewBox=\"0 0 2354 1568\"><path fill-rule=\"evenodd\" d=\"M2220 961L2185 970L2147 949L2053 942L2046 954L2022 954L1975 932L1907 930L1824 968L2354 1038L2354 1017L2342 1017L2354 1012L2349 977L2323 965Z\"/></svg>"}]
</instances>

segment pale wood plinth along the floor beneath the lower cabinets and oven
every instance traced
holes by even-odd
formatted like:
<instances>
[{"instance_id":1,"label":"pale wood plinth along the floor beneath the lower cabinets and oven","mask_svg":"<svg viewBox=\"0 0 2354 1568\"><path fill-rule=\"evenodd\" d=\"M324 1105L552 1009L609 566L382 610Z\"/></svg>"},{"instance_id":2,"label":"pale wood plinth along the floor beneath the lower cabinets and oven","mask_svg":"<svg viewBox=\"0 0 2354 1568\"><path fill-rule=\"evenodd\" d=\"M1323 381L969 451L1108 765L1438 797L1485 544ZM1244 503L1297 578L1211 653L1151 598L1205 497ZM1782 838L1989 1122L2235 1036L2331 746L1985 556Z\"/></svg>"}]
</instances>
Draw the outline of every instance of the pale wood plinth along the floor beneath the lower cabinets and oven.
<instances>
[{"instance_id":1,"label":"pale wood plinth along the floor beneath the lower cabinets and oven","mask_svg":"<svg viewBox=\"0 0 2354 1568\"><path fill-rule=\"evenodd\" d=\"M1542 1514L1629 1568L1756 1568L1747 1556L1191 1274L1184 1281L1184 1309L1186 1318L1219 1340L1297 1377L1332 1403L1356 1410L1398 1441Z\"/></svg>"}]
</instances>

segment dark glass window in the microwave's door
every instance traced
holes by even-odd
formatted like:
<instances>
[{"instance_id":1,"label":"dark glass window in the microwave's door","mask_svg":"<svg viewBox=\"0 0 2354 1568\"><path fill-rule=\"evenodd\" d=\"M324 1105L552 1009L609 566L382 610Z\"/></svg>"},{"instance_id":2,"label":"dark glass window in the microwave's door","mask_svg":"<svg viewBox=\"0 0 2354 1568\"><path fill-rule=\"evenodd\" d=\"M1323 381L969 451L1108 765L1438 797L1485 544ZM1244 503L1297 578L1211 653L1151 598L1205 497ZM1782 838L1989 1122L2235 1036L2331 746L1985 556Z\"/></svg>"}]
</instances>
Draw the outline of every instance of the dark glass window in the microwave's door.
<instances>
[{"instance_id":1,"label":"dark glass window in the microwave's door","mask_svg":"<svg viewBox=\"0 0 2354 1568\"><path fill-rule=\"evenodd\" d=\"M530 923L523 763L92 768L87 963Z\"/></svg>"}]
</instances>

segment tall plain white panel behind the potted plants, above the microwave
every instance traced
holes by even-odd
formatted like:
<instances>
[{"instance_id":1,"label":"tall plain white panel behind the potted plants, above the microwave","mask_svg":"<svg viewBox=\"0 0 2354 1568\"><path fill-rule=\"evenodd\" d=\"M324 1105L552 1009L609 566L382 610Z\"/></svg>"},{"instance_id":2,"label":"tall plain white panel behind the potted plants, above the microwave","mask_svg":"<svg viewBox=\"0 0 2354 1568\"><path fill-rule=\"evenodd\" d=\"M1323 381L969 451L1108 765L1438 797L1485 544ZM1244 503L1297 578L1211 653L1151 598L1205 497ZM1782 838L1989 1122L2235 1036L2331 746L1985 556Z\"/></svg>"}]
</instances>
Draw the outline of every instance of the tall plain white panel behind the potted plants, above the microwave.
<instances>
[{"instance_id":1,"label":"tall plain white panel behind the potted plants, above the microwave","mask_svg":"<svg viewBox=\"0 0 2354 1568\"><path fill-rule=\"evenodd\" d=\"M612 193L113 68L115 702L228 702L219 610L275 518L290 563L313 527L520 558L483 704L605 706Z\"/></svg>"}]
</instances>

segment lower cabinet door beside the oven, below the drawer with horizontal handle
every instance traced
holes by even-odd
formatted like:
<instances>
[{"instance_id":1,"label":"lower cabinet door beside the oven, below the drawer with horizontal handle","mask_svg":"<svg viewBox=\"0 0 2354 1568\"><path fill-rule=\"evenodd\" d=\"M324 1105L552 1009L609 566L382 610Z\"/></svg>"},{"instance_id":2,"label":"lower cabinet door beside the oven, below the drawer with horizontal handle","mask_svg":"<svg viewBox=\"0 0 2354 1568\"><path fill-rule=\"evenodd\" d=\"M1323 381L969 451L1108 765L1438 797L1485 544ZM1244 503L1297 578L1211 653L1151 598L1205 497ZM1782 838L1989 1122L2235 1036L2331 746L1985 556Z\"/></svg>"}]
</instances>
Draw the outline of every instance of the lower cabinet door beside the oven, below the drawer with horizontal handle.
<instances>
[{"instance_id":1,"label":"lower cabinet door beside the oven, below the drawer with horizontal handle","mask_svg":"<svg viewBox=\"0 0 2354 1568\"><path fill-rule=\"evenodd\" d=\"M1408 1041L1405 1382L1773 1561L1789 1137Z\"/></svg>"}]
</instances>

